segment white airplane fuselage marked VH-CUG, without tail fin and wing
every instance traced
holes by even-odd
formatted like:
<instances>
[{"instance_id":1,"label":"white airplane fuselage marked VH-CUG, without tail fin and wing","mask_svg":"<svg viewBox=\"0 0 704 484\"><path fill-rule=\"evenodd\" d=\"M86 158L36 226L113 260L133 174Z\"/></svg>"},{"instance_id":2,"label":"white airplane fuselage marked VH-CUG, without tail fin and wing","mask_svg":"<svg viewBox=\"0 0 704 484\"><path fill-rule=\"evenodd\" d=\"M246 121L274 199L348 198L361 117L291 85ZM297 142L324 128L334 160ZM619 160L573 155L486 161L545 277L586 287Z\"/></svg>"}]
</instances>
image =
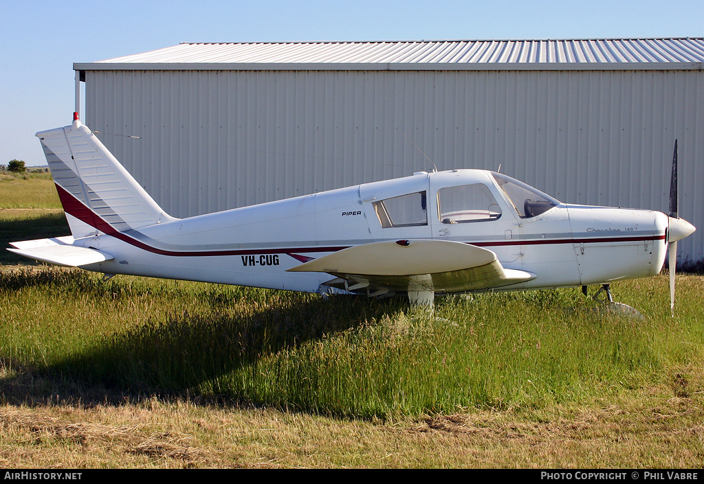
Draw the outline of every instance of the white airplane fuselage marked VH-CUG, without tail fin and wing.
<instances>
[{"instance_id":1,"label":"white airplane fuselage marked VH-CUG, without tail fin and wing","mask_svg":"<svg viewBox=\"0 0 704 484\"><path fill-rule=\"evenodd\" d=\"M472 244L494 251L506 269L534 274L503 290L605 284L660 271L668 227L662 212L566 205L548 198L534 215L518 206L524 203L516 201L523 196L520 190L502 188L507 185L499 182L505 179L483 170L420 172L100 233L75 245L113 255L84 267L106 274L323 293L330 291L324 283L333 276L287 269L380 241Z\"/></svg>"}]
</instances>

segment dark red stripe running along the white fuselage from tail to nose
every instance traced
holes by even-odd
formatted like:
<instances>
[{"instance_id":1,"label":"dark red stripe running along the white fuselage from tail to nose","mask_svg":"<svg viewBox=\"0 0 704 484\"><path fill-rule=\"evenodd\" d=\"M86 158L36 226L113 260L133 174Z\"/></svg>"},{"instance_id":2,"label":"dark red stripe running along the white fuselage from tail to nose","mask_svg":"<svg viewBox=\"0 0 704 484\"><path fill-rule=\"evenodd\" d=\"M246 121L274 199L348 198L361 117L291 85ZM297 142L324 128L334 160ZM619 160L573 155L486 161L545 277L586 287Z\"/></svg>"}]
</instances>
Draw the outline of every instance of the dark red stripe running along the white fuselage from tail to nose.
<instances>
[{"instance_id":1,"label":"dark red stripe running along the white fuselage from tail to nose","mask_svg":"<svg viewBox=\"0 0 704 484\"><path fill-rule=\"evenodd\" d=\"M337 252L349 246L334 246L334 247L308 247L308 248L285 248L285 249L256 249L256 250L165 250L149 246L148 244L130 237L127 234L115 230L108 222L103 220L99 215L87 208L80 200L77 200L72 194L65 191L58 184L56 185L58 196L61 199L63 210L66 213L73 215L81 222L94 227L103 232L103 234L118 238L120 241L129 243L131 246L146 250L153 254L169 255L171 257L215 257L223 255L253 255L253 254L289 254L296 253L320 253L320 252ZM639 236L639 237L593 237L593 238L541 238L534 241L496 241L496 242L467 242L478 247L501 247L501 246L542 246L547 244L561 243L614 243L614 242L643 242L643 241L662 241L665 240L665 234L655 236ZM295 256L292 256L295 257Z\"/></svg>"}]
</instances>

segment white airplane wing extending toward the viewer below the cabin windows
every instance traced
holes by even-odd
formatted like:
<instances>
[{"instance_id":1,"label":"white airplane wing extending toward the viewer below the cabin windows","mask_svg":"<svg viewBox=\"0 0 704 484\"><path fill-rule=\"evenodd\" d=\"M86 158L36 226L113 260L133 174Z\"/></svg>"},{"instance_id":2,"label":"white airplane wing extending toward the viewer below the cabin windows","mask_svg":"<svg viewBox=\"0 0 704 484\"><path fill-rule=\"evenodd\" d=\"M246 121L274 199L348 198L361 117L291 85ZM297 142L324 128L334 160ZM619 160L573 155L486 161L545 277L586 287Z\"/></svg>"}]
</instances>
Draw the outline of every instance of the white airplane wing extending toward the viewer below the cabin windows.
<instances>
[{"instance_id":1,"label":"white airplane wing extending toward the viewer below the cabin windows","mask_svg":"<svg viewBox=\"0 0 704 484\"><path fill-rule=\"evenodd\" d=\"M327 272L328 286L369 295L387 292L481 291L534 279L505 269L491 250L453 241L367 243L291 267L289 272Z\"/></svg>"}]
</instances>

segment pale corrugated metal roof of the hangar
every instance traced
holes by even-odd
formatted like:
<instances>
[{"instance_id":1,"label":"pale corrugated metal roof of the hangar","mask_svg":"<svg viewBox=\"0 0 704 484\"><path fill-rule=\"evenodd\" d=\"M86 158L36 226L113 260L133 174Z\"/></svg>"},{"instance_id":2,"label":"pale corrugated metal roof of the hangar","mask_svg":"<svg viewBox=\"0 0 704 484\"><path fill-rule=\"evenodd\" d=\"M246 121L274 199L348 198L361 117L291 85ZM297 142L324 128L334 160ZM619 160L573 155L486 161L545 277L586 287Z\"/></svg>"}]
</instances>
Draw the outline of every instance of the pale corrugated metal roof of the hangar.
<instances>
[{"instance_id":1,"label":"pale corrugated metal roof of the hangar","mask_svg":"<svg viewBox=\"0 0 704 484\"><path fill-rule=\"evenodd\" d=\"M75 70L632 70L695 69L704 38L184 42Z\"/></svg>"}]
</instances>

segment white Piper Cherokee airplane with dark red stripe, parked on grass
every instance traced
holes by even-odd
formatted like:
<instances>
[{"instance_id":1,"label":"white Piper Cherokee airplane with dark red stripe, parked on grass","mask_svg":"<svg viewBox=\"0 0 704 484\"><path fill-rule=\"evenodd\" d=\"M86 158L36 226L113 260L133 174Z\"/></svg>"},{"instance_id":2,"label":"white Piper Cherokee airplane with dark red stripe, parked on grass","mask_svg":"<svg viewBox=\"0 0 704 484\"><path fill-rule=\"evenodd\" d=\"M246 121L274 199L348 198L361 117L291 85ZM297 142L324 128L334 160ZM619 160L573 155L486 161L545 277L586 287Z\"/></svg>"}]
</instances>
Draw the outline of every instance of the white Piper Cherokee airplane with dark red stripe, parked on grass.
<instances>
[{"instance_id":1,"label":"white Piper Cherokee airplane with dark red stripe, parked on grass","mask_svg":"<svg viewBox=\"0 0 704 484\"><path fill-rule=\"evenodd\" d=\"M77 120L39 132L71 236L8 249L106 276L407 294L514 291L654 276L681 238L677 145L670 215L567 205L505 174L418 172L223 212L167 215ZM674 204L674 205L673 205ZM601 292L601 291L600 291Z\"/></svg>"}]
</instances>

